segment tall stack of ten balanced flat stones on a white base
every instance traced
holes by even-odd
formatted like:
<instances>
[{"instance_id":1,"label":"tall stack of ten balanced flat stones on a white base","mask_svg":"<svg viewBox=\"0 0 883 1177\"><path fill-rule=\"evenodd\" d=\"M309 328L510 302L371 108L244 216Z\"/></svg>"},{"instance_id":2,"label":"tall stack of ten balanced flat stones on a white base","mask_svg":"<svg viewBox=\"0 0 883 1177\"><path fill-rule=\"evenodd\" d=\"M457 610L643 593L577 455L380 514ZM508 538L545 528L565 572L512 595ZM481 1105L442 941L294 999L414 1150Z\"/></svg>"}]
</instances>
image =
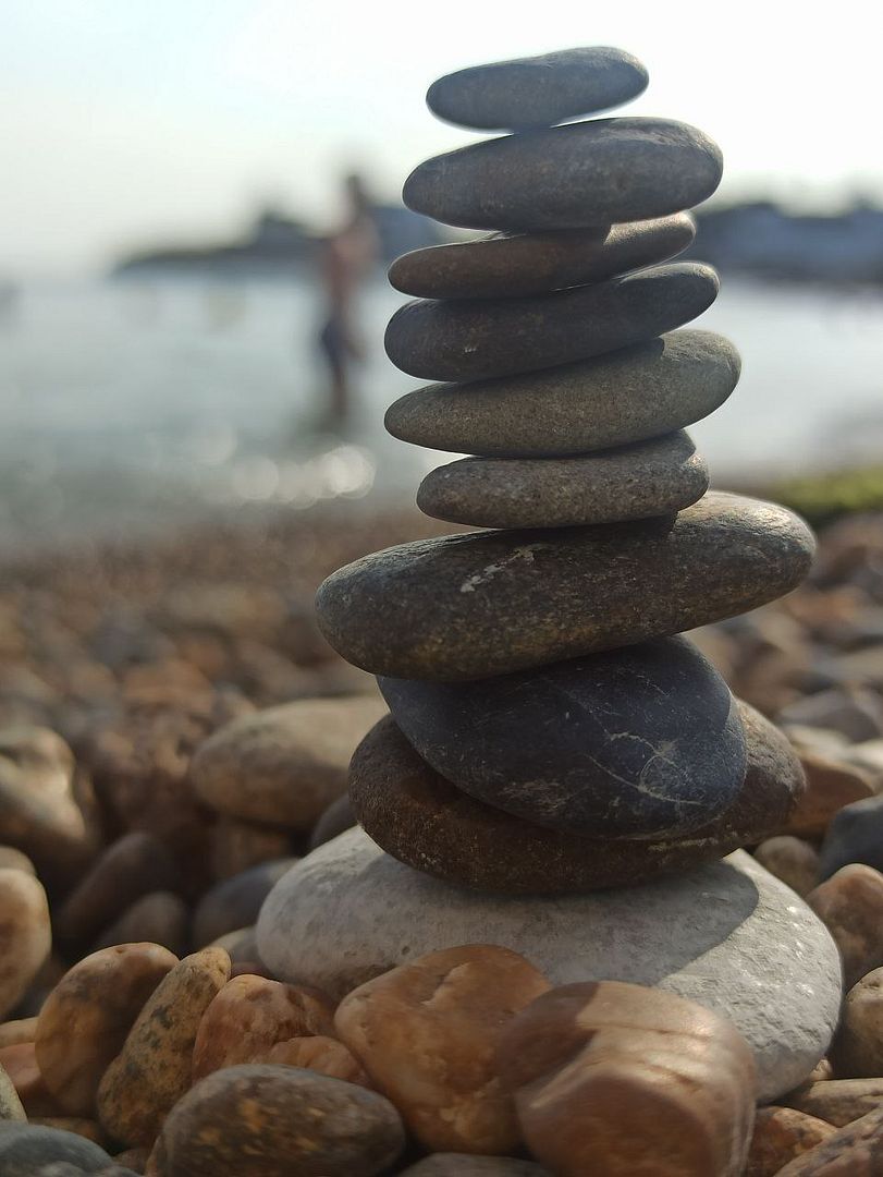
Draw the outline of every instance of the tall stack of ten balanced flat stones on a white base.
<instances>
[{"instance_id":1,"label":"tall stack of ten balanced flat stones on a white base","mask_svg":"<svg viewBox=\"0 0 883 1177\"><path fill-rule=\"evenodd\" d=\"M678 634L787 593L814 541L781 507L709 492L684 432L740 372L727 339L675 330L714 301L715 272L663 265L693 241L685 210L717 187L718 148L664 119L558 125L645 85L631 55L583 48L429 91L441 118L510 133L422 164L406 204L500 232L394 264L417 300L387 351L444 383L387 426L473 455L417 501L486 530L377 552L320 587L325 634L392 714L350 769L364 832L279 884L259 943L281 975L339 991L469 940L558 983L660 983L734 1018L770 1095L824 1050L836 952L744 856L717 860L776 832L803 777Z\"/></svg>"}]
</instances>

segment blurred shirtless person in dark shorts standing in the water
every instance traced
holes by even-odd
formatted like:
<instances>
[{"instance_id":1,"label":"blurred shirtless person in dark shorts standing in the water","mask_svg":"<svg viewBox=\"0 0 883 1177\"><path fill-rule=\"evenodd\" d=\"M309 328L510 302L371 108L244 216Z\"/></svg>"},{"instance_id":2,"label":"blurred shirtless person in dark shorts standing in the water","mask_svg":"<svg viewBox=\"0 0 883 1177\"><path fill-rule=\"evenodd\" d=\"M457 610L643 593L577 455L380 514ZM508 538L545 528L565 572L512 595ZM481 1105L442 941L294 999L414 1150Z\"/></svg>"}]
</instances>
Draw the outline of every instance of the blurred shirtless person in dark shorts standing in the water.
<instances>
[{"instance_id":1,"label":"blurred shirtless person in dark shorts standing in the water","mask_svg":"<svg viewBox=\"0 0 883 1177\"><path fill-rule=\"evenodd\" d=\"M319 346L328 365L329 385L323 425L343 427L352 411L350 371L364 359L364 344L356 322L360 286L379 258L377 230L361 177L344 180L347 212L340 228L321 244L320 281L326 318Z\"/></svg>"}]
</instances>

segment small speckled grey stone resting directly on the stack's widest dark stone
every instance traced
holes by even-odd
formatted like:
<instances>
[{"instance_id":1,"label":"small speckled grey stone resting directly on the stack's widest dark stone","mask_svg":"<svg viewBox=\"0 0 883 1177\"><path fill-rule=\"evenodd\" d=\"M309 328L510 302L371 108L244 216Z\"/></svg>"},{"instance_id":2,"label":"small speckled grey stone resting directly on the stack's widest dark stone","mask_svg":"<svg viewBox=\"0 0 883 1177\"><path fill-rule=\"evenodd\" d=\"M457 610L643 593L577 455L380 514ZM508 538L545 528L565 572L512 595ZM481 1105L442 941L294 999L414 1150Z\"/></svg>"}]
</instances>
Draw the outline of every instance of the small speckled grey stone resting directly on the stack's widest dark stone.
<instances>
[{"instance_id":1,"label":"small speckled grey stone resting directly on the stack's widest dark stone","mask_svg":"<svg viewBox=\"0 0 883 1177\"><path fill-rule=\"evenodd\" d=\"M420 484L417 506L475 527L571 527L670 514L708 490L683 432L577 458L463 458Z\"/></svg>"}]
</instances>

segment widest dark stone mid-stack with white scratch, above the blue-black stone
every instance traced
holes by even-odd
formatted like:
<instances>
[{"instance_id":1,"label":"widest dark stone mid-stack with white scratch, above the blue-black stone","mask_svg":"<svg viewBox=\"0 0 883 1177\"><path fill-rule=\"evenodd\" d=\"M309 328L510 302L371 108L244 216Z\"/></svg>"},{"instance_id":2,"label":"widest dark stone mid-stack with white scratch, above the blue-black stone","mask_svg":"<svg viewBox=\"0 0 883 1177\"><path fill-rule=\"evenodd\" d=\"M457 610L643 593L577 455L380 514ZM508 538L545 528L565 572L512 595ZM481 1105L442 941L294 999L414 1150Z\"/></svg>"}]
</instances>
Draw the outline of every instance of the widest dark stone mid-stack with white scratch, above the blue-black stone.
<instances>
[{"instance_id":1,"label":"widest dark stone mid-stack with white scratch, above the blue-black stone","mask_svg":"<svg viewBox=\"0 0 883 1177\"><path fill-rule=\"evenodd\" d=\"M814 546L790 511L709 492L675 519L389 547L328 577L316 609L363 670L487 678L747 612L800 584Z\"/></svg>"}]
</instances>

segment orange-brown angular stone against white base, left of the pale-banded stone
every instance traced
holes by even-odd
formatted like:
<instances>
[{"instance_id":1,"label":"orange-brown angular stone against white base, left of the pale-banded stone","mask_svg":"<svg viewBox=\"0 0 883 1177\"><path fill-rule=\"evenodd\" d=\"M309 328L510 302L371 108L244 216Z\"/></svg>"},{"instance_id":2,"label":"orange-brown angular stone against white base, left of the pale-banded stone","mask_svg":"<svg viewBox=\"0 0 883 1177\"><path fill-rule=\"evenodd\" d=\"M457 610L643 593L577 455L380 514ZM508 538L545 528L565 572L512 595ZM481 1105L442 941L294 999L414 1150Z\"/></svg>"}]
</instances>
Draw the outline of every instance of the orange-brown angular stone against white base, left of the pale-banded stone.
<instances>
[{"instance_id":1,"label":"orange-brown angular stone against white base, left of the pale-banded stone","mask_svg":"<svg viewBox=\"0 0 883 1177\"><path fill-rule=\"evenodd\" d=\"M494 1053L507 1023L548 988L517 953L469 944L367 982L334 1024L423 1148L506 1153L521 1131Z\"/></svg>"}]
</instances>

